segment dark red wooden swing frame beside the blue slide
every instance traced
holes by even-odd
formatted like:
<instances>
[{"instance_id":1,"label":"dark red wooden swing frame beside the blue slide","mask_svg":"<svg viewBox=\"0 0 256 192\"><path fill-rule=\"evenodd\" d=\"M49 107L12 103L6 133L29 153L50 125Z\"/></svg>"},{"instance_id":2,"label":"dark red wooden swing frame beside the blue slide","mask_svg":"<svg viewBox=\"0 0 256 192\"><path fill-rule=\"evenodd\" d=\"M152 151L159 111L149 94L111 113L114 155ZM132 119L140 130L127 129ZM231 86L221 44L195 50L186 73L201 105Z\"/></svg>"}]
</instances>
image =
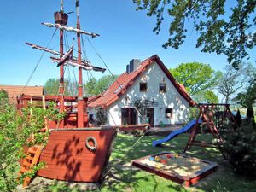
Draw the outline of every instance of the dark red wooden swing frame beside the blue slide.
<instances>
[{"instance_id":1,"label":"dark red wooden swing frame beside the blue slide","mask_svg":"<svg viewBox=\"0 0 256 192\"><path fill-rule=\"evenodd\" d=\"M223 140L219 135L219 129L223 127L225 119L231 119L236 124L236 119L230 111L229 104L222 103L199 103L197 104L200 112L196 120L196 124L191 130L189 141L184 149L184 152L189 150L192 145L201 147L218 148L222 145ZM202 122L201 122L202 121ZM200 123L207 125L207 129L212 133L212 136L218 141L217 143L208 143L203 141L196 141L195 137L199 131Z\"/></svg>"}]
</instances>

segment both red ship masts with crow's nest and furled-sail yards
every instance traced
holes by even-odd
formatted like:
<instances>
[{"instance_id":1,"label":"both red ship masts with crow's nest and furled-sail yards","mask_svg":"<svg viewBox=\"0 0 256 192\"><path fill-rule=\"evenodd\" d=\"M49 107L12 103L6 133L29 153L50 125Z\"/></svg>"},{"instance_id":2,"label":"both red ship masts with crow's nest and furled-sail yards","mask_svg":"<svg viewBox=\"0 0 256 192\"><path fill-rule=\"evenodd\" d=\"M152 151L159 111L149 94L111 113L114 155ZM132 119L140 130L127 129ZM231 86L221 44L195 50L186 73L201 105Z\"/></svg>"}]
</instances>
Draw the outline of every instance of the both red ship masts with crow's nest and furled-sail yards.
<instances>
[{"instance_id":1,"label":"both red ship masts with crow's nest and furled-sail yards","mask_svg":"<svg viewBox=\"0 0 256 192\"><path fill-rule=\"evenodd\" d=\"M60 101L60 112L64 112L64 66L71 65L73 67L79 67L79 95L78 95L78 111L77 111L77 127L82 128L84 126L88 126L88 117L84 113L86 113L87 108L87 98L83 97L83 73L82 70L93 70L96 72L105 72L105 68L92 66L90 61L82 60L81 55L81 34L89 35L91 38L95 38L99 36L99 34L95 32L86 32L80 29L79 22L79 0L76 0L76 9L77 9L77 26L76 28L73 26L67 26L68 15L64 12L63 8L63 0L61 0L61 10L55 12L55 24L51 23L42 23L47 27L55 27L60 30L60 52L41 47L37 44L26 43L31 46L32 49L39 49L45 52L49 52L53 55L58 55L60 58L50 57L52 61L57 62L57 67L60 67L60 86L59 86L59 101ZM63 34L64 31L67 32L76 32L77 40L78 40L78 57L73 57L73 47L64 54L63 51ZM85 124L84 124L85 123ZM58 127L64 127L64 121L61 120L59 122Z\"/></svg>"}]
</instances>

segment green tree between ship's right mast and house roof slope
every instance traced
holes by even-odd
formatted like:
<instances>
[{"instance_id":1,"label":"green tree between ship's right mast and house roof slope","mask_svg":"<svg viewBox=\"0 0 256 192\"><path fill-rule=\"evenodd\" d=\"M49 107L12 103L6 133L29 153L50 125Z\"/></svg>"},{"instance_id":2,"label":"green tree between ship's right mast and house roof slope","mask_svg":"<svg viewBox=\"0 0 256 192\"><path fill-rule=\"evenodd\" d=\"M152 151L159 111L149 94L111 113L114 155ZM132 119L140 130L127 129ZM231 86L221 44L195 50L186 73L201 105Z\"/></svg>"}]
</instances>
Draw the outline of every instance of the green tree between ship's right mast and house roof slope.
<instances>
[{"instance_id":1,"label":"green tree between ship's right mast and house roof slope","mask_svg":"<svg viewBox=\"0 0 256 192\"><path fill-rule=\"evenodd\" d=\"M102 93L107 90L117 78L118 75L104 75L98 80L90 78L85 84L86 96L95 96Z\"/></svg>"}]
</instances>

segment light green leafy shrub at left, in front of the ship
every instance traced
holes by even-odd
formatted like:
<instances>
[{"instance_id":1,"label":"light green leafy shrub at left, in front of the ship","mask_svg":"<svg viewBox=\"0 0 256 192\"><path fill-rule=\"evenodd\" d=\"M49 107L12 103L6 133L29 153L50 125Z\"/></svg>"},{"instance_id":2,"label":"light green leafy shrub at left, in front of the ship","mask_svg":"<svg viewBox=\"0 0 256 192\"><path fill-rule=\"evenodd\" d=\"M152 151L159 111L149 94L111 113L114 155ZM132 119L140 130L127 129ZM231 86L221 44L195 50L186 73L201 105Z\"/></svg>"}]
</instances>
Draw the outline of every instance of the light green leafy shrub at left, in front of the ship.
<instances>
[{"instance_id":1,"label":"light green leafy shrub at left, in front of the ship","mask_svg":"<svg viewBox=\"0 0 256 192\"><path fill-rule=\"evenodd\" d=\"M32 115L31 115L32 110ZM26 108L22 113L8 102L7 94L0 90L0 191L14 191L22 182L18 181L20 166L18 160L24 158L24 147L44 144L48 132L39 132L44 128L45 118L61 119L64 114L58 113L53 104L48 109ZM29 138L33 138L32 140ZM42 164L33 167L35 171ZM29 176L35 172L30 172Z\"/></svg>"}]
</instances>

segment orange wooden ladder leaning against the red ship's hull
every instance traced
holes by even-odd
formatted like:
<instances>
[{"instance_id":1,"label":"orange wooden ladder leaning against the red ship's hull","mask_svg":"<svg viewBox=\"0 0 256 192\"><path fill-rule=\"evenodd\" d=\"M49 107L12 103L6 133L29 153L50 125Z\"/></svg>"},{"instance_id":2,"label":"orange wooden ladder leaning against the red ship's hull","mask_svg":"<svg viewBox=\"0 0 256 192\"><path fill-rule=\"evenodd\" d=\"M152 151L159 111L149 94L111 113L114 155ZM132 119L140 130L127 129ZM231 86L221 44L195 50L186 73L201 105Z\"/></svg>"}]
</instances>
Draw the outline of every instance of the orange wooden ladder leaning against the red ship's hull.
<instances>
[{"instance_id":1,"label":"orange wooden ladder leaning against the red ship's hull","mask_svg":"<svg viewBox=\"0 0 256 192\"><path fill-rule=\"evenodd\" d=\"M42 146L40 145L32 146L28 148L26 152L26 157L23 159L21 164L19 177L26 172L32 172L33 166L36 166L38 164L41 151L42 151ZM32 177L26 176L22 184L23 188L26 188L31 181L32 181Z\"/></svg>"}]
</instances>

